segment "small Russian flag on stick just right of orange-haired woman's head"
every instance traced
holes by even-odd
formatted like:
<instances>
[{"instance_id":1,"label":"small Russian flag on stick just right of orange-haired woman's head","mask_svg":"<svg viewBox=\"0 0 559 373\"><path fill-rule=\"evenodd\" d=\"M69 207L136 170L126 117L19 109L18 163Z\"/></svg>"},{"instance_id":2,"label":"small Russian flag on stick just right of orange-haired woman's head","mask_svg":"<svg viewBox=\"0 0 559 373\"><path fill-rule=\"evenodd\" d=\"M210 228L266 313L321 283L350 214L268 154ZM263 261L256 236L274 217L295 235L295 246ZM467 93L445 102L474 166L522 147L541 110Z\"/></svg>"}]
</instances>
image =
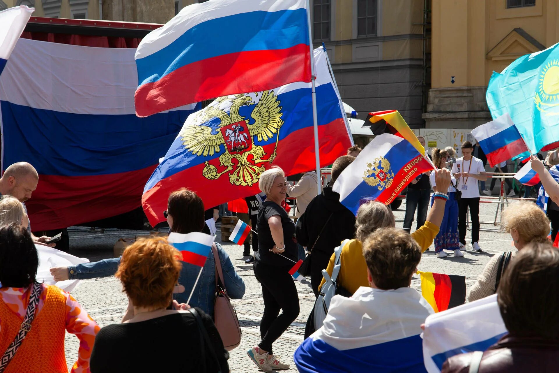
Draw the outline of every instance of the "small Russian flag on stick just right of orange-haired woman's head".
<instances>
[{"instance_id":1,"label":"small Russian flag on stick just right of orange-haired woman's head","mask_svg":"<svg viewBox=\"0 0 559 373\"><path fill-rule=\"evenodd\" d=\"M203 267L206 263L214 236L201 232L187 234L172 232L169 234L169 243L182 254L182 261L195 266Z\"/></svg>"}]
</instances>

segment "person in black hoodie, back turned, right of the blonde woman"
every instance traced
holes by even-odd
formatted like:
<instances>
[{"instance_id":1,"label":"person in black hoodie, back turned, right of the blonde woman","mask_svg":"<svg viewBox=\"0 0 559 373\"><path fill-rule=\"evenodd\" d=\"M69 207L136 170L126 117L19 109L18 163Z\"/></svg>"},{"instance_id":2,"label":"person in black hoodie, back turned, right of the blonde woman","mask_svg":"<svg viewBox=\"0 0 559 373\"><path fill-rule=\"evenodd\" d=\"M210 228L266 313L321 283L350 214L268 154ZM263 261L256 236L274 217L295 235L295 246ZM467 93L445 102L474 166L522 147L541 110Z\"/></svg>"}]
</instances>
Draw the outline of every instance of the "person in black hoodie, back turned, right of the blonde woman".
<instances>
[{"instance_id":1,"label":"person in black hoodie, back turned, right of the blonde woman","mask_svg":"<svg viewBox=\"0 0 559 373\"><path fill-rule=\"evenodd\" d=\"M344 239L355 237L355 215L340 204L340 195L331 187L354 159L351 155L342 155L334 161L329 186L311 200L305 213L297 220L297 242L312 252L311 286L315 296L318 296L322 270L328 267L334 249Z\"/></svg>"}]
</instances>

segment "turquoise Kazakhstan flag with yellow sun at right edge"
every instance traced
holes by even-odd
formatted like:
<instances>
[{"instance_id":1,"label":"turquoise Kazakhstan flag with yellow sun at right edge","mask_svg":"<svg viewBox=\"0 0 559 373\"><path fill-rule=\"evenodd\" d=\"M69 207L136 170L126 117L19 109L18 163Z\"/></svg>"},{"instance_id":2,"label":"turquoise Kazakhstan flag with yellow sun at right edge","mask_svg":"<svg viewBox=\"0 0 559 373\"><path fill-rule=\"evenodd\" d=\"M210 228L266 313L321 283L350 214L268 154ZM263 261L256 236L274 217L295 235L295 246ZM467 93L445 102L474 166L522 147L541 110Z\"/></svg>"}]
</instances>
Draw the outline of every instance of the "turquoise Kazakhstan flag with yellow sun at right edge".
<instances>
[{"instance_id":1,"label":"turquoise Kazakhstan flag with yellow sun at right edge","mask_svg":"<svg viewBox=\"0 0 559 373\"><path fill-rule=\"evenodd\" d=\"M509 113L533 154L557 148L559 43L520 57L500 74L493 72L486 100L493 119Z\"/></svg>"}]
</instances>

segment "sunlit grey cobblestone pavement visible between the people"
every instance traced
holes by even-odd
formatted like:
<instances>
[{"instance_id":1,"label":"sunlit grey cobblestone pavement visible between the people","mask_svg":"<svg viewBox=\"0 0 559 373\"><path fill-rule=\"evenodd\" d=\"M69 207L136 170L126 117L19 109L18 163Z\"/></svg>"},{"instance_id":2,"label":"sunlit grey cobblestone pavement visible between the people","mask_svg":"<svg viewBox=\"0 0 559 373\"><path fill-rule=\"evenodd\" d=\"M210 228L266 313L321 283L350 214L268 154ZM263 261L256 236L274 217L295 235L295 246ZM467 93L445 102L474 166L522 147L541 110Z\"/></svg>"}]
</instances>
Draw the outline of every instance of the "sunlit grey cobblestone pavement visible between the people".
<instances>
[{"instance_id":1,"label":"sunlit grey cobblestone pavement visible between the people","mask_svg":"<svg viewBox=\"0 0 559 373\"><path fill-rule=\"evenodd\" d=\"M493 221L495 219L496 204L481 204L481 221ZM405 202L399 210L395 211L396 219L400 220L396 226L402 227L404 219ZM482 224L483 228L495 229L490 224ZM412 228L414 229L414 227ZM219 228L218 228L219 230ZM70 253L78 257L89 258L90 261L97 261L102 258L112 257L112 247L115 240L119 237L132 237L137 234L147 234L145 231L131 230L106 230L105 233L91 232L87 228L73 227L69 230L70 234ZM221 237L218 233L217 240ZM470 239L470 234L466 241ZM232 372L257 372L258 369L249 360L246 350L258 344L260 340L260 318L263 313L262 292L260 285L254 278L252 265L244 263L243 248L231 242L223 242L223 247L229 252L231 261L236 266L239 275L243 277L247 285L247 292L243 299L232 300L237 311L243 338L239 347L230 352L229 366ZM419 270L438 273L448 273L466 276L466 285L469 288L476 280L476 276L482 271L489 258L503 251L513 249L511 238L503 232L481 232L480 246L481 253L471 251L471 246L465 252L465 257L454 258L449 255L447 258L439 259L435 257L433 247L423 254ZM283 336L274 343L274 352L282 356L282 361L291 364L289 371L296 372L293 363L293 352L303 341L305 323L314 304L309 280L297 282L299 291L300 309L299 317L291 324L291 327ZM419 276L414 276L412 287L420 289ZM91 317L101 326L112 323L119 323L126 309L126 296L121 291L119 281L115 277L97 278L95 280L84 280L73 290L72 295L82 306L88 310ZM67 333L66 337L66 357L69 369L72 367L78 355L79 341L72 334ZM188 353L188 351L185 351ZM123 357L126 358L126 357ZM171 357L169 357L171 358ZM165 357L162 356L165 360Z\"/></svg>"}]
</instances>

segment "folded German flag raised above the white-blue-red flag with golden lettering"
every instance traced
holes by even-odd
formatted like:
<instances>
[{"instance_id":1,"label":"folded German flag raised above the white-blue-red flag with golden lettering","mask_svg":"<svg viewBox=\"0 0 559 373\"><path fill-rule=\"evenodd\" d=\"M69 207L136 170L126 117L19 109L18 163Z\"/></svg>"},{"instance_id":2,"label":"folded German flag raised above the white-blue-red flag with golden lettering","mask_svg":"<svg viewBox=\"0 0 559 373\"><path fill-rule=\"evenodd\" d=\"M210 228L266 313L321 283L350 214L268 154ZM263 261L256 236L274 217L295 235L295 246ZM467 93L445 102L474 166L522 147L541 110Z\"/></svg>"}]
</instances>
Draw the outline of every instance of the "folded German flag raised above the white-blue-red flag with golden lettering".
<instances>
[{"instance_id":1,"label":"folded German flag raised above the white-blue-red flag with golden lettering","mask_svg":"<svg viewBox=\"0 0 559 373\"><path fill-rule=\"evenodd\" d=\"M370 112L363 126L369 126L375 136L386 133L400 136L410 141L420 154L425 154L425 148L397 110Z\"/></svg>"}]
</instances>

